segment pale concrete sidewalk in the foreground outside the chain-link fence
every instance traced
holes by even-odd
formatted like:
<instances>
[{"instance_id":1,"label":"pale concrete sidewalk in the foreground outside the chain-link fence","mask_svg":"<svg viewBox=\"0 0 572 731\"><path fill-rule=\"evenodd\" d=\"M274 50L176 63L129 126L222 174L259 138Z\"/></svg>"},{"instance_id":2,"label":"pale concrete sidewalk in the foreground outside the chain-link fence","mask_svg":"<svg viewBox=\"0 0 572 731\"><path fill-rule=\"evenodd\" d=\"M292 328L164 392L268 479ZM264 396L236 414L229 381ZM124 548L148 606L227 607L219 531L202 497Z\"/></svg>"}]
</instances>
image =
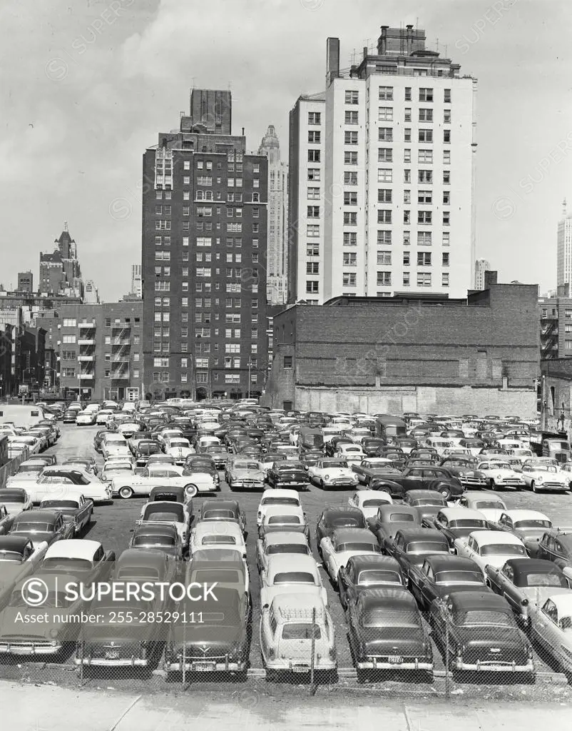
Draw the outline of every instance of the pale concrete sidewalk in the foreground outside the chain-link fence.
<instances>
[{"instance_id":1,"label":"pale concrete sidewalk in the foreground outside the chain-link fence","mask_svg":"<svg viewBox=\"0 0 572 731\"><path fill-rule=\"evenodd\" d=\"M328 696L272 697L237 689L228 697L189 690L182 695L123 694L0 681L0 727L7 731L551 731L569 730L568 703Z\"/></svg>"}]
</instances>

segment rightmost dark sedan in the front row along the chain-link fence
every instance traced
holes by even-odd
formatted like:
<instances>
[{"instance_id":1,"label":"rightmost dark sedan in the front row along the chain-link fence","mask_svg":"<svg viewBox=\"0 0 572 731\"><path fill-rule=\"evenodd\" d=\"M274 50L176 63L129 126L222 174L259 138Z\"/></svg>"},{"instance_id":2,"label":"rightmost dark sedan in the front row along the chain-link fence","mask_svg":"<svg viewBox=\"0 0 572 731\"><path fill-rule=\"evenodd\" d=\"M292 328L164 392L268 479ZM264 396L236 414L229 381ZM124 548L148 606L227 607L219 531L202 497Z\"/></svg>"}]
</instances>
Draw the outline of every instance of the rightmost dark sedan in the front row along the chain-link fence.
<instances>
[{"instance_id":1,"label":"rightmost dark sedan in the front row along the chain-link fence","mask_svg":"<svg viewBox=\"0 0 572 731\"><path fill-rule=\"evenodd\" d=\"M533 648L516 626L511 607L487 590L457 591L430 606L432 637L451 670L534 673Z\"/></svg>"}]
</instances>

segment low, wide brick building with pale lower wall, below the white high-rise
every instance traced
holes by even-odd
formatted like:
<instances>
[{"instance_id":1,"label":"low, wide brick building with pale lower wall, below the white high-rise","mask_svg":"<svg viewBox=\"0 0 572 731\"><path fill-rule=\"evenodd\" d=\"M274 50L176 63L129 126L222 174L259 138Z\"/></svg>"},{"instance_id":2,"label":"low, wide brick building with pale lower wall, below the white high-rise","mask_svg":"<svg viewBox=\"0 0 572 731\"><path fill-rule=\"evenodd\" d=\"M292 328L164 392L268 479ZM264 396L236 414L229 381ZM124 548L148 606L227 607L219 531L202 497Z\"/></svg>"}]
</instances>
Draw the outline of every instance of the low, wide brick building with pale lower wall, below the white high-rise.
<instances>
[{"instance_id":1,"label":"low, wide brick building with pale lower wall, below the white high-rise","mask_svg":"<svg viewBox=\"0 0 572 731\"><path fill-rule=\"evenodd\" d=\"M401 413L536 413L538 287L488 284L468 298L338 297L273 321L262 403Z\"/></svg>"}]
</instances>

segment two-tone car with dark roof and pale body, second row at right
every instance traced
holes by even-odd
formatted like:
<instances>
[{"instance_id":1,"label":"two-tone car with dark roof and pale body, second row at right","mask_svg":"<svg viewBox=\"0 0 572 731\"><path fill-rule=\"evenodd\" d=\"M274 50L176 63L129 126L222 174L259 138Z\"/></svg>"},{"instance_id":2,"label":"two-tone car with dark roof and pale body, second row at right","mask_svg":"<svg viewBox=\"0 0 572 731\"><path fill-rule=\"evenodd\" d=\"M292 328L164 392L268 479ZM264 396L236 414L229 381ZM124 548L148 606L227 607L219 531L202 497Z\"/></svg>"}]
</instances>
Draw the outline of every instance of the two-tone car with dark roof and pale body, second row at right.
<instances>
[{"instance_id":1,"label":"two-tone car with dark roof and pale body, second row at right","mask_svg":"<svg viewBox=\"0 0 572 731\"><path fill-rule=\"evenodd\" d=\"M501 567L487 566L485 577L524 626L530 624L530 607L541 607L552 594L571 591L562 569L541 558L510 558Z\"/></svg>"}]
</instances>

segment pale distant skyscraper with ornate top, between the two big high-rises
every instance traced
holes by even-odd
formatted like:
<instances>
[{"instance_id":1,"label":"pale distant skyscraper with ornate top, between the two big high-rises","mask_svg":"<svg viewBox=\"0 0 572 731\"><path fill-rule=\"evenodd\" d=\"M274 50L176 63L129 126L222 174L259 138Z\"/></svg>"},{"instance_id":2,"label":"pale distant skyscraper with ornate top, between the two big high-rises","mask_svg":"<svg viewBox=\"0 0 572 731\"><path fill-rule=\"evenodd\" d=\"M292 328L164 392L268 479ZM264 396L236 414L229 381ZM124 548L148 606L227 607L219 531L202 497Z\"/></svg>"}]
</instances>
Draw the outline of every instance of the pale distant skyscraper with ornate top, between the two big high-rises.
<instances>
[{"instance_id":1,"label":"pale distant skyscraper with ornate top, between the two big high-rises","mask_svg":"<svg viewBox=\"0 0 572 731\"><path fill-rule=\"evenodd\" d=\"M272 124L262 137L259 155L268 158L267 298L286 303L288 272L288 165L281 162L280 143Z\"/></svg>"}]
</instances>

